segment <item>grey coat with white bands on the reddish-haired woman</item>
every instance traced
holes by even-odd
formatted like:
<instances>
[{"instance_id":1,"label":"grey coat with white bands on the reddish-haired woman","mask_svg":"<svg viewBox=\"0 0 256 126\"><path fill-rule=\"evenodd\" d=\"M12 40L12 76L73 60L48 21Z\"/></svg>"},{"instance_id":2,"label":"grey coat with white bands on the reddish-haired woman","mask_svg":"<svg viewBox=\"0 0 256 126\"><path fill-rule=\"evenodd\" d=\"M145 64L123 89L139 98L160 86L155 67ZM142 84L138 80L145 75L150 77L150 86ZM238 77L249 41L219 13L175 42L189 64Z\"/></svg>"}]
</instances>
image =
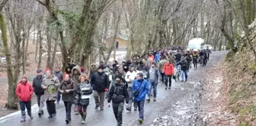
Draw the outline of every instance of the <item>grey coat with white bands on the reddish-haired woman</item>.
<instances>
[{"instance_id":1,"label":"grey coat with white bands on the reddish-haired woman","mask_svg":"<svg viewBox=\"0 0 256 126\"><path fill-rule=\"evenodd\" d=\"M92 88L90 88L90 91L89 91L90 93L88 93L86 95L83 95L83 96L88 96L88 98L87 99L82 99L82 90L81 89L83 87L91 87L91 83L86 81L86 82L79 83L76 86L75 93L76 93L76 95L78 95L78 105L88 106L89 103L90 103L90 97L91 97L91 93L92 93Z\"/></svg>"}]
</instances>

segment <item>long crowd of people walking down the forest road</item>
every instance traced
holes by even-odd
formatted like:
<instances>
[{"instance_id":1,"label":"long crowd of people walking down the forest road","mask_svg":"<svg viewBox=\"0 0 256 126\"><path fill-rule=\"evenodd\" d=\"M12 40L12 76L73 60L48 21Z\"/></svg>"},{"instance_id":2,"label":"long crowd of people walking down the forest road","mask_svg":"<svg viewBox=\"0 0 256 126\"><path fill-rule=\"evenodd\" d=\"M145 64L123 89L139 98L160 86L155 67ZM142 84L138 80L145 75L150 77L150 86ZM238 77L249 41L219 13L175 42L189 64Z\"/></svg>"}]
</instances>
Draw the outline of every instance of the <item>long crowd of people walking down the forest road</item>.
<instances>
[{"instance_id":1,"label":"long crowd of people walking down the forest road","mask_svg":"<svg viewBox=\"0 0 256 126\"><path fill-rule=\"evenodd\" d=\"M177 50L177 51L174 51ZM193 63L194 69L197 64L206 65L210 57L210 49L184 51L181 47L170 49L151 50L143 55L134 54L127 61L114 61L107 65L101 61L99 65L91 65L90 71L85 71L78 65L72 64L66 67L62 73L60 67L55 71L37 70L37 77L30 84L26 75L21 77L16 94L21 108L21 122L26 121L27 115L31 115L31 96L37 96L39 106L38 115L42 116L43 106L46 103L48 118L56 118L56 103L59 104L62 97L66 108L66 123L71 121L72 105L75 105L75 115L81 115L81 123L85 124L87 107L93 93L94 109L104 110L104 100L108 106L112 102L117 126L122 125L123 109L139 112L138 121L144 119L145 102L157 99L158 83L165 84L165 90L171 89L171 81L179 80L176 70L181 71L181 82L187 82L187 72Z\"/></svg>"}]
</instances>

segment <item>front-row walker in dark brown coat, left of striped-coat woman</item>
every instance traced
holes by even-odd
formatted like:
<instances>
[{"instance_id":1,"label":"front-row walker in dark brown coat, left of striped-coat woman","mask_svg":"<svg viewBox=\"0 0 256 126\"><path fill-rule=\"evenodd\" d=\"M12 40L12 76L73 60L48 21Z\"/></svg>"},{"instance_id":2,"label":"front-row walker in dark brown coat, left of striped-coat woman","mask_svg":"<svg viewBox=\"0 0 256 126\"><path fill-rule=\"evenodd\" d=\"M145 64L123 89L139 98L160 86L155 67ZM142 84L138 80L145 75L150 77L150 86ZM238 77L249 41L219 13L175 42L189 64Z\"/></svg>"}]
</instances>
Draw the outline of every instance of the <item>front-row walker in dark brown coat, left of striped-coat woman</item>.
<instances>
[{"instance_id":1,"label":"front-row walker in dark brown coat, left of striped-coat woman","mask_svg":"<svg viewBox=\"0 0 256 126\"><path fill-rule=\"evenodd\" d=\"M71 121L71 106L74 100L75 89L75 83L71 80L69 74L66 74L58 89L62 93L62 101L66 109L66 124L69 124L69 121Z\"/></svg>"}]
</instances>

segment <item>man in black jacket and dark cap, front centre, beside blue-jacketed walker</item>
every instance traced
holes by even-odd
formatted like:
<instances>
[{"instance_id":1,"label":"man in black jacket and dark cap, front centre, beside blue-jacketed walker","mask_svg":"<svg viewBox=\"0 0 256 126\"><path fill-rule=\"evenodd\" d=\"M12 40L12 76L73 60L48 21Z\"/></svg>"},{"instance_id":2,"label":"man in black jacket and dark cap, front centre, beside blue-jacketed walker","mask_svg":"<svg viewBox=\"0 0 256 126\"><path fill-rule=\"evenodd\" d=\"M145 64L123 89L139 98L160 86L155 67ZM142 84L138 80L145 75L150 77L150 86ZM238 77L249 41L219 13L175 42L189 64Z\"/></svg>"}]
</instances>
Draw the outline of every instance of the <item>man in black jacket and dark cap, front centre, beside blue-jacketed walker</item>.
<instances>
[{"instance_id":1,"label":"man in black jacket and dark cap, front centre, beside blue-jacketed walker","mask_svg":"<svg viewBox=\"0 0 256 126\"><path fill-rule=\"evenodd\" d=\"M115 84L110 88L109 97L107 99L108 106L110 106L112 100L117 126L122 126L124 100L126 104L129 102L129 94L126 90L126 85L122 82L122 78L122 75L117 74Z\"/></svg>"}]
</instances>

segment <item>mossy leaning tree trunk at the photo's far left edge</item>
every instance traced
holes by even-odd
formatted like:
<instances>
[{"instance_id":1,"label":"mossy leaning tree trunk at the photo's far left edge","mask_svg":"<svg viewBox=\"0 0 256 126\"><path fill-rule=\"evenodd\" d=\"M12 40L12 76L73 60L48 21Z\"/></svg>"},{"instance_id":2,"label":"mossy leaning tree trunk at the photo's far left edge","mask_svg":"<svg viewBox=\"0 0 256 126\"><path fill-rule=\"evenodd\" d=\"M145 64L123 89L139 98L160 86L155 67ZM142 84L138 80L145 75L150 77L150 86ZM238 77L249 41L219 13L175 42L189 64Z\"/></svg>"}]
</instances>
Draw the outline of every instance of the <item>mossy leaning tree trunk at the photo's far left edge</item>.
<instances>
[{"instance_id":1,"label":"mossy leaning tree trunk at the photo's far left edge","mask_svg":"<svg viewBox=\"0 0 256 126\"><path fill-rule=\"evenodd\" d=\"M8 74L8 102L5 107L8 109L18 109L17 96L15 95L16 84L13 80L13 74L11 69L11 54L8 47L8 39L6 32L6 24L4 14L0 13L0 30L2 32L2 43L5 48L5 56L7 63L7 74Z\"/></svg>"}]
</instances>

